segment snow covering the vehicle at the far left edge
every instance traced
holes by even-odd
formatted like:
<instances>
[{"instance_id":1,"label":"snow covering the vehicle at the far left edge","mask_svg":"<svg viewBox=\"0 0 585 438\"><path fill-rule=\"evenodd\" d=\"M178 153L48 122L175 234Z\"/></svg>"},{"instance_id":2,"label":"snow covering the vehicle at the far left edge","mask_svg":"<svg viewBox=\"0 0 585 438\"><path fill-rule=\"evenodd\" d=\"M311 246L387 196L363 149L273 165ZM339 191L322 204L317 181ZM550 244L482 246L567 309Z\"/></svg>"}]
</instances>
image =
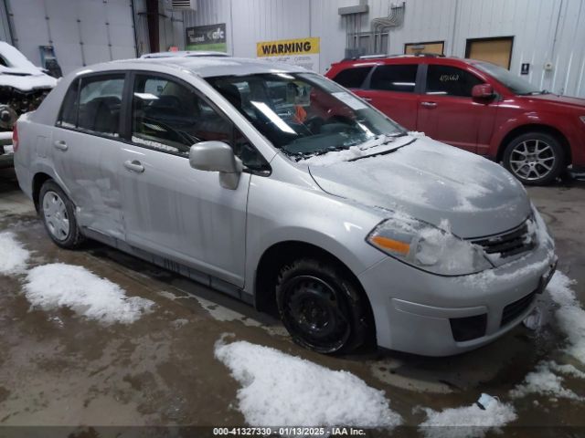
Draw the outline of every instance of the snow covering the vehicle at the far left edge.
<instances>
[{"instance_id":1,"label":"snow covering the vehicle at the far left edge","mask_svg":"<svg viewBox=\"0 0 585 438\"><path fill-rule=\"evenodd\" d=\"M0 41L0 57L7 66L0 65L0 85L13 87L22 91L31 89L52 89L57 79L45 74L27 57L4 41Z\"/></svg>"}]
</instances>

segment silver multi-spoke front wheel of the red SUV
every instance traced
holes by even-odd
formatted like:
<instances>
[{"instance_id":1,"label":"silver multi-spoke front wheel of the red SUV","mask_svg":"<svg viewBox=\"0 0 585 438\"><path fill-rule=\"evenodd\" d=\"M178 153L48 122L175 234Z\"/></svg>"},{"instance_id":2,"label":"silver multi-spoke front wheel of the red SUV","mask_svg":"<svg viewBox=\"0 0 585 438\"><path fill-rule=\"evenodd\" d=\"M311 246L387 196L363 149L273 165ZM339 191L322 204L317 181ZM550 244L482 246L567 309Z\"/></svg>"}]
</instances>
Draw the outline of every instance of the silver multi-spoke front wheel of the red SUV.
<instances>
[{"instance_id":1,"label":"silver multi-spoke front wheel of the red SUV","mask_svg":"<svg viewBox=\"0 0 585 438\"><path fill-rule=\"evenodd\" d=\"M553 183L566 168L560 141L544 132L528 132L510 141L503 161L504 167L527 185Z\"/></svg>"}]
</instances>

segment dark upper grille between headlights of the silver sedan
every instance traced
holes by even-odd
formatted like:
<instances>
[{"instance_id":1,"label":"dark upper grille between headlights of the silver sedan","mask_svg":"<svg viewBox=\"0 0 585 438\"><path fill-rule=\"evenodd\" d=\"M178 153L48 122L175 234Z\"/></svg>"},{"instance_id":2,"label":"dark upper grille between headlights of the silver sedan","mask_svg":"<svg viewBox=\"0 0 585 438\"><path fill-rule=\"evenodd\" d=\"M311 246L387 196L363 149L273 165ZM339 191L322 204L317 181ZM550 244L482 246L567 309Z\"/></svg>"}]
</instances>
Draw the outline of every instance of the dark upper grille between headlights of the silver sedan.
<instances>
[{"instance_id":1,"label":"dark upper grille between headlights of the silver sedan","mask_svg":"<svg viewBox=\"0 0 585 438\"><path fill-rule=\"evenodd\" d=\"M531 230L532 224L532 219L527 219L524 224L501 235L471 239L471 242L482 246L488 255L500 255L503 258L511 257L512 255L530 251L535 247L536 239Z\"/></svg>"}]
</instances>

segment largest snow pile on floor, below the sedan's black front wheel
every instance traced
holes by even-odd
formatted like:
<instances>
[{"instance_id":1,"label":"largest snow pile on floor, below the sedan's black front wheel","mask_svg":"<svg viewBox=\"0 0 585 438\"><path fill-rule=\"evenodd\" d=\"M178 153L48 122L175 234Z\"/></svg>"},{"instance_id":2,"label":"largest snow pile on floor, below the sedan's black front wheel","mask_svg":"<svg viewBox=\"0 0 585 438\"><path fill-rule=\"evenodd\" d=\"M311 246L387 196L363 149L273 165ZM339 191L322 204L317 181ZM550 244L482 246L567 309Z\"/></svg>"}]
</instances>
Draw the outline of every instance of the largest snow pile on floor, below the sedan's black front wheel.
<instances>
[{"instance_id":1,"label":"largest snow pile on floor, below the sedan's black front wheel","mask_svg":"<svg viewBox=\"0 0 585 438\"><path fill-rule=\"evenodd\" d=\"M392 427L402 422L383 391L276 349L219 341L215 355L241 383L239 410L254 426Z\"/></svg>"}]
</instances>

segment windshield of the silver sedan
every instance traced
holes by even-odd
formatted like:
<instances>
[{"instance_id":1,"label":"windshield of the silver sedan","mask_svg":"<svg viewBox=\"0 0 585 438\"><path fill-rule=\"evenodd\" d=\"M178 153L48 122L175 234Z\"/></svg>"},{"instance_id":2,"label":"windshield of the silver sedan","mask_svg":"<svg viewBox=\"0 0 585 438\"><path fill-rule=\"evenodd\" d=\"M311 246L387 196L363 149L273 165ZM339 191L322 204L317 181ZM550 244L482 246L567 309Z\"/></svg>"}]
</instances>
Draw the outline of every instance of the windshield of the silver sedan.
<instances>
[{"instance_id":1,"label":"windshield of the silver sedan","mask_svg":"<svg viewBox=\"0 0 585 438\"><path fill-rule=\"evenodd\" d=\"M313 73L207 78L272 144L301 159L405 130L334 82Z\"/></svg>"}]
</instances>

